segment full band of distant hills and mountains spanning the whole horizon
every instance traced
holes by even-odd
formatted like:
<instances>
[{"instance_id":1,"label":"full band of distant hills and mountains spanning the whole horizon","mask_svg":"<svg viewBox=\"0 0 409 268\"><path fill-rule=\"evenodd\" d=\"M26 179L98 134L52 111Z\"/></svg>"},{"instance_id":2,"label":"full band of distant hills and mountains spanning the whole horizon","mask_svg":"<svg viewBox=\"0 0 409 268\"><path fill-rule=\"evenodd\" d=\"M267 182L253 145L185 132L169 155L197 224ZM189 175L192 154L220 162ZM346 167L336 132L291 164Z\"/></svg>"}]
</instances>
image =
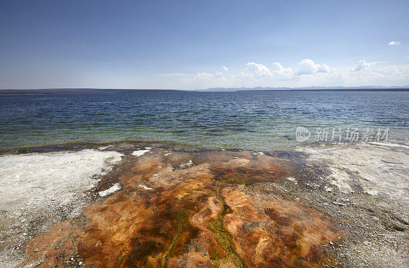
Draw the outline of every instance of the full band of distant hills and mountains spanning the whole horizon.
<instances>
[{"instance_id":1,"label":"full band of distant hills and mountains spanning the whole horizon","mask_svg":"<svg viewBox=\"0 0 409 268\"><path fill-rule=\"evenodd\" d=\"M194 92L235 92L235 91L408 91L405 86L309 86L309 87L212 87ZM0 95L25 94L95 94L133 92L184 92L184 90L130 90L125 88L41 88L36 90L0 90Z\"/></svg>"}]
</instances>

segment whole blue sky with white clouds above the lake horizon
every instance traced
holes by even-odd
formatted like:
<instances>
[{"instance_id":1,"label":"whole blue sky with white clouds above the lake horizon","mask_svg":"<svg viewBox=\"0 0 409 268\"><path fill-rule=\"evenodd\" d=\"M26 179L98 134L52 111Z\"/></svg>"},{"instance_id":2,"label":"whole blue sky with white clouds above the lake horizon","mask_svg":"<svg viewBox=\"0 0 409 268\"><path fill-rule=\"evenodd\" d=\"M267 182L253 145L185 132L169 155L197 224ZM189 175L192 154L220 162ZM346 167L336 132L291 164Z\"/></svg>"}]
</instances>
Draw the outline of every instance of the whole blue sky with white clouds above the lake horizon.
<instances>
[{"instance_id":1,"label":"whole blue sky with white clouds above the lake horizon","mask_svg":"<svg viewBox=\"0 0 409 268\"><path fill-rule=\"evenodd\" d=\"M0 2L0 88L409 85L409 1Z\"/></svg>"}]
</instances>

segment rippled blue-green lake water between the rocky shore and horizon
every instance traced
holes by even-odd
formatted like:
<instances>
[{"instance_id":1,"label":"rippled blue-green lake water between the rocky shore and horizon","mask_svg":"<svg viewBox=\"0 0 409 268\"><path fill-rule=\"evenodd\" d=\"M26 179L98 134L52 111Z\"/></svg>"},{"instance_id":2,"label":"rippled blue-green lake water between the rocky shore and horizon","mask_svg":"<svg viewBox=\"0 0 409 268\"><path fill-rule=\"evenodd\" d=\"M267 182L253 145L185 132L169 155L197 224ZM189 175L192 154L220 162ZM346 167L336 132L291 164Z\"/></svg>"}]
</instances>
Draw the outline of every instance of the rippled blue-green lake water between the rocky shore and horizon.
<instances>
[{"instance_id":1,"label":"rippled blue-green lake water between the rocky shore and horizon","mask_svg":"<svg viewBox=\"0 0 409 268\"><path fill-rule=\"evenodd\" d=\"M332 127L409 138L408 92L8 95L0 112L0 149L135 140L268 150L314 143L317 130ZM296 141L298 126L309 140Z\"/></svg>"}]
</instances>

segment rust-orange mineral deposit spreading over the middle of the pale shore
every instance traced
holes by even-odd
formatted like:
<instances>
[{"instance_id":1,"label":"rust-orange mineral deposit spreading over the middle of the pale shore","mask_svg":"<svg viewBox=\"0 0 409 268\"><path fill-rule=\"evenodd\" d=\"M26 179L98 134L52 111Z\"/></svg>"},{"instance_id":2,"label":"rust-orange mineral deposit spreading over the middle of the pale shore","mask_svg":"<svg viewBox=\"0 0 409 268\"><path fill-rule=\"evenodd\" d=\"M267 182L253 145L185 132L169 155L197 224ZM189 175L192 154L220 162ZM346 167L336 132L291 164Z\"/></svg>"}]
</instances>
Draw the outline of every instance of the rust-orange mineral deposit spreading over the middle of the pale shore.
<instances>
[{"instance_id":1,"label":"rust-orange mineral deposit spreading over the middle of the pale shore","mask_svg":"<svg viewBox=\"0 0 409 268\"><path fill-rule=\"evenodd\" d=\"M86 267L318 267L337 239L331 220L279 193L294 172L284 159L250 151L156 150L129 156L114 175L122 190L28 243L25 264ZM101 181L101 187L104 181Z\"/></svg>"}]
</instances>

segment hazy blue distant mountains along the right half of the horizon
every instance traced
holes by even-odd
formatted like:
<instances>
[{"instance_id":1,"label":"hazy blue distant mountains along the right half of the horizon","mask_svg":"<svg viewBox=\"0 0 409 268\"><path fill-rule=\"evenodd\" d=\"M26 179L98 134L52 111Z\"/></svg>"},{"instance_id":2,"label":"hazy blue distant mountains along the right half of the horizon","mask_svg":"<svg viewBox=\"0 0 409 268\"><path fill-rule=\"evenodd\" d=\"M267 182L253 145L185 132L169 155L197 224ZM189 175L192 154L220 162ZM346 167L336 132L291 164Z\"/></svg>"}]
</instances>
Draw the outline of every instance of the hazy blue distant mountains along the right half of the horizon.
<instances>
[{"instance_id":1,"label":"hazy blue distant mountains along the right half of the horizon","mask_svg":"<svg viewBox=\"0 0 409 268\"><path fill-rule=\"evenodd\" d=\"M308 86L308 87L213 87L201 92L233 92L233 91L409 91L405 86Z\"/></svg>"}]
</instances>

